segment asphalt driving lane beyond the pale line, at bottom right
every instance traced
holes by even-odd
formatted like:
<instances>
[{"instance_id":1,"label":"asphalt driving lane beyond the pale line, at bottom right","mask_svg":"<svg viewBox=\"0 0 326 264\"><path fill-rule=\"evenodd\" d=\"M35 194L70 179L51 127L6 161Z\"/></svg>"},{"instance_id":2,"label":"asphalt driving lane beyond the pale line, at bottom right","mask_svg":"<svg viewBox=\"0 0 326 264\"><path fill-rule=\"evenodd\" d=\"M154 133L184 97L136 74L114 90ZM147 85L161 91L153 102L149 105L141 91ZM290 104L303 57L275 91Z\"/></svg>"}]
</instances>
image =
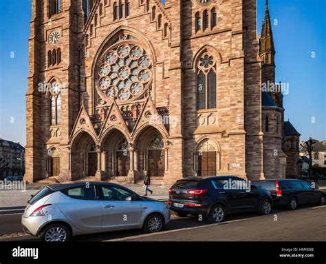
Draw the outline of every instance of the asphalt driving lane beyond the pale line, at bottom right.
<instances>
[{"instance_id":1,"label":"asphalt driving lane beyond the pale line, at bottom right","mask_svg":"<svg viewBox=\"0 0 326 264\"><path fill-rule=\"evenodd\" d=\"M227 221L124 241L326 241L326 206Z\"/></svg>"}]
</instances>

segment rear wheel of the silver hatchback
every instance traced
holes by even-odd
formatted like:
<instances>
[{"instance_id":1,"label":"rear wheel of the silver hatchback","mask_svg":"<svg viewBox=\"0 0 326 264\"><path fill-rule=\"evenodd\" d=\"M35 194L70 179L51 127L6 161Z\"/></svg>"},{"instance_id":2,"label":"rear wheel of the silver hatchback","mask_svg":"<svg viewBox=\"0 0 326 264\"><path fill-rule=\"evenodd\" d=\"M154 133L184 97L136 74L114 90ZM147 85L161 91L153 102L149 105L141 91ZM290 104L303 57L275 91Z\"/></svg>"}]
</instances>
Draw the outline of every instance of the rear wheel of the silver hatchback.
<instances>
[{"instance_id":1,"label":"rear wheel of the silver hatchback","mask_svg":"<svg viewBox=\"0 0 326 264\"><path fill-rule=\"evenodd\" d=\"M40 236L43 242L66 242L69 241L71 232L67 225L54 223L45 227Z\"/></svg>"}]
</instances>

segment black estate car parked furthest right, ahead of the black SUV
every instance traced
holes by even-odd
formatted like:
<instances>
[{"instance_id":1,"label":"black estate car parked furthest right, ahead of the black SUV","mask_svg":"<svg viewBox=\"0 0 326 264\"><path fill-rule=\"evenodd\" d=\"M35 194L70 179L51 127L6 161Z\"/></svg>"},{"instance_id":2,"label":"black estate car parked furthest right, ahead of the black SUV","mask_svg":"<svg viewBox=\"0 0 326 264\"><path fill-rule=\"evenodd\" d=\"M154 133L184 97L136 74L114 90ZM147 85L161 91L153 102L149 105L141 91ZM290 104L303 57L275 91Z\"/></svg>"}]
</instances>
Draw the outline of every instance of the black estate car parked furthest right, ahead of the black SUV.
<instances>
[{"instance_id":1,"label":"black estate car parked furthest right, ahead of the black SUV","mask_svg":"<svg viewBox=\"0 0 326 264\"><path fill-rule=\"evenodd\" d=\"M268 190L272 195L274 205L284 205L288 210L295 210L298 205L309 203L325 204L325 193L306 181L268 179L252 183Z\"/></svg>"}]
</instances>

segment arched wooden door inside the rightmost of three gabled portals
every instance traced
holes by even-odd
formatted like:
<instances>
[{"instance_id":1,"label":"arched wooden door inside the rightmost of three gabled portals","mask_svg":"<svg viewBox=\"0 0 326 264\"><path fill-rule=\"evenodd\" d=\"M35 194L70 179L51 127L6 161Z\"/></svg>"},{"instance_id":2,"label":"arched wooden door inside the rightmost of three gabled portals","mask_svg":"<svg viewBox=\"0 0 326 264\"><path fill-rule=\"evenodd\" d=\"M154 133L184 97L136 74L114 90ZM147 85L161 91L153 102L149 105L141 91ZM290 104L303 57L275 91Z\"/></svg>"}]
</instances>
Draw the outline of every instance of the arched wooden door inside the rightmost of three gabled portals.
<instances>
[{"instance_id":1,"label":"arched wooden door inside the rightmost of three gabled portals","mask_svg":"<svg viewBox=\"0 0 326 264\"><path fill-rule=\"evenodd\" d=\"M162 139L156 136L148 150L149 175L164 176L165 169L165 150Z\"/></svg>"}]
</instances>

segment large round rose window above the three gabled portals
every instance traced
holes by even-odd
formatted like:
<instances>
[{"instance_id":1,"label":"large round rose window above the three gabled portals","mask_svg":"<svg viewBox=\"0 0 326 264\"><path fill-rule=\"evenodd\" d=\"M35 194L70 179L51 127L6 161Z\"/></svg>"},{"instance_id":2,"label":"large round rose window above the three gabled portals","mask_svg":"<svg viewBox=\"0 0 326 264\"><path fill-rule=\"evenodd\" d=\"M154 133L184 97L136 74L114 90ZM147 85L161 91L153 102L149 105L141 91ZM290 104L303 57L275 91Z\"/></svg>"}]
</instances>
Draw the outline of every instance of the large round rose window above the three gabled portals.
<instances>
[{"instance_id":1,"label":"large round rose window above the three gabled portals","mask_svg":"<svg viewBox=\"0 0 326 264\"><path fill-rule=\"evenodd\" d=\"M127 101L144 94L153 73L151 57L138 45L109 50L98 66L98 90L108 99Z\"/></svg>"}]
</instances>

